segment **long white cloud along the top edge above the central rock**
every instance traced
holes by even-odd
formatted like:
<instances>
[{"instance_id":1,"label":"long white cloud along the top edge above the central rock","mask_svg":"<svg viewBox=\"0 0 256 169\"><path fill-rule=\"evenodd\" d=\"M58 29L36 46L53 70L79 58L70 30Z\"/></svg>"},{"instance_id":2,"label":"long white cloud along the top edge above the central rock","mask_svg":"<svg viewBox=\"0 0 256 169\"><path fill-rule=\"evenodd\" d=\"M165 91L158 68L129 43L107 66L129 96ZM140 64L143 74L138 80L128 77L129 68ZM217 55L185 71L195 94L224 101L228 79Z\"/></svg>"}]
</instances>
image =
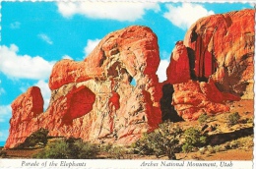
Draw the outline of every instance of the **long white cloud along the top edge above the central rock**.
<instances>
[{"instance_id":1,"label":"long white cloud along the top edge above the central rock","mask_svg":"<svg viewBox=\"0 0 256 169\"><path fill-rule=\"evenodd\" d=\"M160 11L153 2L58 2L58 12L65 18L79 14L94 19L133 22L141 19L147 10Z\"/></svg>"}]
</instances>

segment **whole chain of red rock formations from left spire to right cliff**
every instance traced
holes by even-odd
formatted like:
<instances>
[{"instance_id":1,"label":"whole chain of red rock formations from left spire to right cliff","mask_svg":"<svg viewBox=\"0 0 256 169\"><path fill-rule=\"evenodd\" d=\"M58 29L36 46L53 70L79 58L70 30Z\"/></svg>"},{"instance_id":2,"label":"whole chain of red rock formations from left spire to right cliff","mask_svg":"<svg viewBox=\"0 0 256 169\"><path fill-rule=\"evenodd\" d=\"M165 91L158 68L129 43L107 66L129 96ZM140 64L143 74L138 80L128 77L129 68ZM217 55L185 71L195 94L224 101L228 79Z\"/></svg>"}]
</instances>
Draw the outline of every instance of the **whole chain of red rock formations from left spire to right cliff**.
<instances>
[{"instance_id":1,"label":"whole chain of red rock formations from left spire to right cliff","mask_svg":"<svg viewBox=\"0 0 256 169\"><path fill-rule=\"evenodd\" d=\"M55 64L45 112L36 86L13 101L5 148L40 128L52 137L130 144L164 120L196 120L228 111L227 100L253 99L253 23L254 10L200 19L176 43L163 83L150 28L109 33L84 61Z\"/></svg>"}]
</instances>

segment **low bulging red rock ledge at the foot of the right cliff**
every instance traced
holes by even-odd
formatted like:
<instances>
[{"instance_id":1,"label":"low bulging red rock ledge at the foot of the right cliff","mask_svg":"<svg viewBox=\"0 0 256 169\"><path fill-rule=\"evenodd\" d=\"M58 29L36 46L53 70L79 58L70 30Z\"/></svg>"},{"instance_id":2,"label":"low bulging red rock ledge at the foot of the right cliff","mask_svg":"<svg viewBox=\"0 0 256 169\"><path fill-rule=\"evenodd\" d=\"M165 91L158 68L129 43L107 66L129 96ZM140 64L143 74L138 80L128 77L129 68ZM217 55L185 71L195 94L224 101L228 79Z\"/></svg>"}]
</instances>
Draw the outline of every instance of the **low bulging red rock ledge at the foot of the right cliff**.
<instances>
[{"instance_id":1,"label":"low bulging red rock ledge at the foot of the right cliff","mask_svg":"<svg viewBox=\"0 0 256 169\"><path fill-rule=\"evenodd\" d=\"M197 120L201 114L214 115L229 110L226 100L239 100L239 97L221 92L212 80L209 83L189 81L173 84L172 105L184 120Z\"/></svg>"}]
</instances>

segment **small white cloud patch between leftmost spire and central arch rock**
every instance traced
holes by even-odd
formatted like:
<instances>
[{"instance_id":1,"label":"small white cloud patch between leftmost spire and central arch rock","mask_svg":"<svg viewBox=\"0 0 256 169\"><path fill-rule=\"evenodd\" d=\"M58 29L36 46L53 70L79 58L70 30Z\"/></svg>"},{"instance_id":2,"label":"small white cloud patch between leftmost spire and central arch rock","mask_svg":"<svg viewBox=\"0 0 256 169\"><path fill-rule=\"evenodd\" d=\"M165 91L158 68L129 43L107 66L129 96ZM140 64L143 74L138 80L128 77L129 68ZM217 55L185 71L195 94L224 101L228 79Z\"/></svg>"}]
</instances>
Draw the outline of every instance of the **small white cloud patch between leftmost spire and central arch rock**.
<instances>
[{"instance_id":1,"label":"small white cloud patch between leftmost spire and central arch rock","mask_svg":"<svg viewBox=\"0 0 256 169\"><path fill-rule=\"evenodd\" d=\"M49 105L50 102L50 95L51 95L51 91L49 88L49 85L47 83L45 83L44 81L38 81L36 84L34 84L35 86L38 86L41 90L41 95L43 97L44 100L44 109L46 109Z\"/></svg>"}]
</instances>

